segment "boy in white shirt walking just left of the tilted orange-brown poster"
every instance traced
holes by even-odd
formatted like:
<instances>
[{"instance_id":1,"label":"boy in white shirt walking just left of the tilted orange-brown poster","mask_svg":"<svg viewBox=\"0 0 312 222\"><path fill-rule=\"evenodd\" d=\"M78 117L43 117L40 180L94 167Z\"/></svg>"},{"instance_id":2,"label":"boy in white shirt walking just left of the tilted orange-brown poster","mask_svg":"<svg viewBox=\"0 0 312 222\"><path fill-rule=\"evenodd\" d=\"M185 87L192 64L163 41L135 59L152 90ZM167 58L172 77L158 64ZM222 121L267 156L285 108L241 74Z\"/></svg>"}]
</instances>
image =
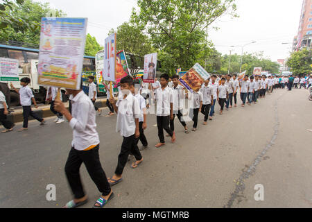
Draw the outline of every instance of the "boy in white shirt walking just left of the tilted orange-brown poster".
<instances>
[{"instance_id":1,"label":"boy in white shirt walking just left of the tilted orange-brown poster","mask_svg":"<svg viewBox=\"0 0 312 222\"><path fill-rule=\"evenodd\" d=\"M173 81L173 119L170 119L170 128L173 132L175 132L175 115L177 115L177 119L179 119L180 123L184 127L184 133L189 133L189 129L187 128L187 123L183 121L183 102L185 98L184 87L179 85L179 76L172 76Z\"/></svg>"}]
</instances>

